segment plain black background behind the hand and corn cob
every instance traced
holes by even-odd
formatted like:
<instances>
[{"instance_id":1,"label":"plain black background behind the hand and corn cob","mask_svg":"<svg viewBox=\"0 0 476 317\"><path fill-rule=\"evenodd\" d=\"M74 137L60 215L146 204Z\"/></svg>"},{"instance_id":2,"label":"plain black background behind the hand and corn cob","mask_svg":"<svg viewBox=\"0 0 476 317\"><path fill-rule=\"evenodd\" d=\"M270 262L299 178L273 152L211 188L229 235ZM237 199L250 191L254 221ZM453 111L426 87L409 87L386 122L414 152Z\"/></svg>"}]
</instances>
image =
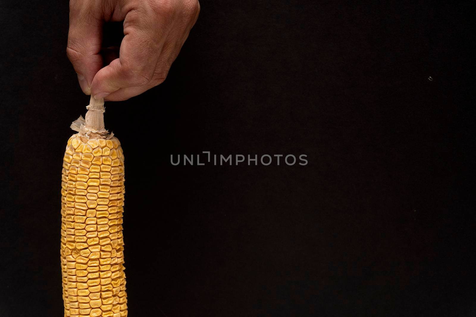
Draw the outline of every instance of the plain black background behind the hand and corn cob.
<instances>
[{"instance_id":1,"label":"plain black background behind the hand and corn cob","mask_svg":"<svg viewBox=\"0 0 476 317\"><path fill-rule=\"evenodd\" d=\"M67 2L1 1L2 317L63 314L61 160L89 102ZM476 316L475 2L352 2L202 1L167 80L106 104L129 316ZM309 163L170 164L201 151Z\"/></svg>"}]
</instances>

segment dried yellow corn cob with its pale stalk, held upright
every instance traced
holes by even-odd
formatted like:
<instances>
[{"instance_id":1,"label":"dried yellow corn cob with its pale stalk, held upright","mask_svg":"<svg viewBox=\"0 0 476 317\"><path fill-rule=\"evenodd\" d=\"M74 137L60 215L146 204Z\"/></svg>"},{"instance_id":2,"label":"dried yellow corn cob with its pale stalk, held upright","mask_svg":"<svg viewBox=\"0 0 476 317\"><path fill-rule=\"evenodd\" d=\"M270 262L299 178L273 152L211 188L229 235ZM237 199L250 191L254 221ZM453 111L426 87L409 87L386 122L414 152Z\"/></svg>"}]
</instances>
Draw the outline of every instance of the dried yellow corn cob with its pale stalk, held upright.
<instances>
[{"instance_id":1,"label":"dried yellow corn cob with its pale stalk, held upright","mask_svg":"<svg viewBox=\"0 0 476 317\"><path fill-rule=\"evenodd\" d=\"M124 156L104 129L104 102L79 117L63 158L61 269L64 316L127 316L122 212Z\"/></svg>"}]
</instances>

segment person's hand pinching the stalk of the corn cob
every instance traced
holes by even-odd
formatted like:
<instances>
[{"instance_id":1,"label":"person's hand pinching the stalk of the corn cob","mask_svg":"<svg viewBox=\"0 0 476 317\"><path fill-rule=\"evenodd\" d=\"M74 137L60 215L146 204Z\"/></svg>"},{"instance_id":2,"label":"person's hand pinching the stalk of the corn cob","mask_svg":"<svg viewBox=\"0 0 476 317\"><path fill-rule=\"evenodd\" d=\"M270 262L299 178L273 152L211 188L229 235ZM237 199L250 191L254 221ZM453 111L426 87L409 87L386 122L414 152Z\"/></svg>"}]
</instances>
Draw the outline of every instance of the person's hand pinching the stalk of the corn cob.
<instances>
[{"instance_id":1,"label":"person's hand pinching the stalk of the corn cob","mask_svg":"<svg viewBox=\"0 0 476 317\"><path fill-rule=\"evenodd\" d=\"M83 92L118 101L162 83L199 11L198 0L70 0L66 51ZM103 23L122 20L119 58L103 67Z\"/></svg>"}]
</instances>

